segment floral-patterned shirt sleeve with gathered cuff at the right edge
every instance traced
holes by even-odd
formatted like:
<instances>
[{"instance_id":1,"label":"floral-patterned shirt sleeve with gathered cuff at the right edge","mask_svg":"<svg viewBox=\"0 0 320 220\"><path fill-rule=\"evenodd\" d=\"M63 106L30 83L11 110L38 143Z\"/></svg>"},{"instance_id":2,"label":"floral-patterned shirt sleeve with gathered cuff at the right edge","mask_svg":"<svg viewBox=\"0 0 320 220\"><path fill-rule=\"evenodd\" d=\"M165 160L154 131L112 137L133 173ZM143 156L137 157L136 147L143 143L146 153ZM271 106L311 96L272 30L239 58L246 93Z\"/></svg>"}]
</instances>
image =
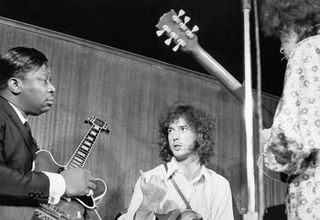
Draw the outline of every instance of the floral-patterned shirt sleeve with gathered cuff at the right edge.
<instances>
[{"instance_id":1,"label":"floral-patterned shirt sleeve with gathered cuff at the right edge","mask_svg":"<svg viewBox=\"0 0 320 220\"><path fill-rule=\"evenodd\" d=\"M318 42L319 43L319 42ZM264 145L265 165L298 173L304 159L320 147L320 49L312 38L289 58L282 98Z\"/></svg>"}]
</instances>

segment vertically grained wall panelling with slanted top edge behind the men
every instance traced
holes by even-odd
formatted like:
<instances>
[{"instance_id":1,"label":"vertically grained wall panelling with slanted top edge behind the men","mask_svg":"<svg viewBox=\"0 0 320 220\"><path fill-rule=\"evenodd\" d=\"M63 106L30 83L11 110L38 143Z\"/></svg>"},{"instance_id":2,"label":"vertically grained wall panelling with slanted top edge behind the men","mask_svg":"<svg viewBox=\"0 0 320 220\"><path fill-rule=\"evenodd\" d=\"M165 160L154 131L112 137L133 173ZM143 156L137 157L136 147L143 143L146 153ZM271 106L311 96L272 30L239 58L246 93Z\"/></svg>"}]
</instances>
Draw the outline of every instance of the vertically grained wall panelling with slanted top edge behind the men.
<instances>
[{"instance_id":1,"label":"vertically grained wall panelling with slanted top edge behind the men","mask_svg":"<svg viewBox=\"0 0 320 220\"><path fill-rule=\"evenodd\" d=\"M245 136L240 103L214 78L115 48L38 27L0 20L1 51L14 46L45 53L57 87L52 109L31 119L39 145L65 164L97 116L109 123L86 168L108 185L98 208L113 219L127 208L139 170L161 163L158 158L158 115L176 101L196 104L217 118L216 155L209 167L231 184L236 219L245 211ZM177 57L178 59L178 57ZM274 108L276 99L264 97ZM257 134L257 129L256 129ZM256 147L258 147L256 141ZM284 201L284 185L265 180L266 206Z\"/></svg>"}]
</instances>

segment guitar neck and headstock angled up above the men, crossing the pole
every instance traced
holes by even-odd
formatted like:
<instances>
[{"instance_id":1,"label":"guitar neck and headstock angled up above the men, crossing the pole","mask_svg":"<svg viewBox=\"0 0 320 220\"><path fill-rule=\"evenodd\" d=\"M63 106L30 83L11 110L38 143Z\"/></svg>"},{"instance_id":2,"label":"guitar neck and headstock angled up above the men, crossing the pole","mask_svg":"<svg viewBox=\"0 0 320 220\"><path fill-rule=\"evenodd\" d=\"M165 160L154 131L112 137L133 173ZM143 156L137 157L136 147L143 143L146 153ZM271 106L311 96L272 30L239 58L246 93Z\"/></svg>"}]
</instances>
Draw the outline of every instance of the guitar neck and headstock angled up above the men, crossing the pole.
<instances>
[{"instance_id":1,"label":"guitar neck and headstock angled up above the men, crossing the pole","mask_svg":"<svg viewBox=\"0 0 320 220\"><path fill-rule=\"evenodd\" d=\"M156 25L159 29L156 32L157 35L159 37L163 34L167 35L169 38L165 40L166 45L169 46L173 42L176 44L172 49L174 52L180 49L191 54L210 75L220 81L241 103L244 103L243 85L199 45L198 38L194 33L199 30L199 27L194 26L189 29L186 23L190 21L190 18L185 16L182 19L184 14L183 10L180 10L178 14L173 10L165 13ZM268 121L264 121L264 126L269 127L272 124L273 114L264 106L262 107L263 113L268 116L265 117ZM257 115L257 111L255 111L255 116Z\"/></svg>"}]
</instances>

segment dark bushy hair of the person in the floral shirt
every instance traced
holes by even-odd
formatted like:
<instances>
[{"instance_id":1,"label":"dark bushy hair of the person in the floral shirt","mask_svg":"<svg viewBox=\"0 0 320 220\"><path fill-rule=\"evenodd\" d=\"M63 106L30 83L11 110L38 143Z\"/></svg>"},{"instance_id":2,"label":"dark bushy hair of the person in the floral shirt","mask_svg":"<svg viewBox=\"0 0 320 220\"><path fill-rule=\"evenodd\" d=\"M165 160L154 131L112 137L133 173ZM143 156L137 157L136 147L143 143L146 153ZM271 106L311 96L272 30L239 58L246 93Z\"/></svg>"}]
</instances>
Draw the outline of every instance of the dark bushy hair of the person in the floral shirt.
<instances>
[{"instance_id":1,"label":"dark bushy hair of the person in the floral shirt","mask_svg":"<svg viewBox=\"0 0 320 220\"><path fill-rule=\"evenodd\" d=\"M263 0L262 30L266 36L281 37L293 29L302 40L316 35L320 25L319 0Z\"/></svg>"}]
</instances>

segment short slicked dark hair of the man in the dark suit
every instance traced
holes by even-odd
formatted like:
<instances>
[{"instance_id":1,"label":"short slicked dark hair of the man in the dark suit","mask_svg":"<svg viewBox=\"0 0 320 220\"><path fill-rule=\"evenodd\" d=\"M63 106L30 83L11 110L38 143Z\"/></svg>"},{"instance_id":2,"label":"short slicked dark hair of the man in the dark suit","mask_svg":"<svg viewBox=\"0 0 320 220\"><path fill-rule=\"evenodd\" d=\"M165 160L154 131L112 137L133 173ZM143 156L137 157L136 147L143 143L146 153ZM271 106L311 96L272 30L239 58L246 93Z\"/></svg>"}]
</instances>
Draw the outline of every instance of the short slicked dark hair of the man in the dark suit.
<instances>
[{"instance_id":1,"label":"short slicked dark hair of the man in the dark suit","mask_svg":"<svg viewBox=\"0 0 320 220\"><path fill-rule=\"evenodd\" d=\"M48 59L34 48L14 47L0 55L0 89L11 77L25 77L28 71L47 65Z\"/></svg>"}]
</instances>

